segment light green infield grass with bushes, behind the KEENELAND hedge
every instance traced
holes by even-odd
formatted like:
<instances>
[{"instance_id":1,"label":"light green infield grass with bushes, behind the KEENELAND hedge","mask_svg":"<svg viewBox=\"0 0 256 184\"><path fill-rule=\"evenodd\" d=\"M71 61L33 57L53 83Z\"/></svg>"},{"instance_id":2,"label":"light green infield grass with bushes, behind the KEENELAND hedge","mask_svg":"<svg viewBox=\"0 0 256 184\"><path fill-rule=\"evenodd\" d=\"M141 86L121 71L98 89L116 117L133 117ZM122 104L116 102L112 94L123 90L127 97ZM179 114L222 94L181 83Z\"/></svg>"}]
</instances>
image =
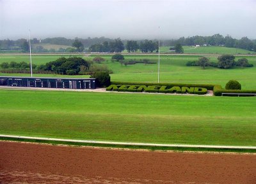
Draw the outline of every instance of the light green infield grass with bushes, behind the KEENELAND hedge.
<instances>
[{"instance_id":1,"label":"light green infield grass with bushes, behind the KEENELAND hedge","mask_svg":"<svg viewBox=\"0 0 256 184\"><path fill-rule=\"evenodd\" d=\"M85 57L84 59L93 59L95 55ZM33 55L33 63L45 64L46 62L56 60L61 55ZM66 57L69 57L68 55ZM106 64L109 69L113 71L111 74L112 81L145 81L156 82L157 81L157 64L134 64L129 66L121 66L118 62L111 61L111 55L102 55L107 61L102 62ZM200 67L188 67L186 62L189 60L198 60L201 56L198 55L161 55L160 59L160 81L170 83L209 83L220 84L225 87L225 84L229 80L237 80L242 84L243 89L255 89L256 88L256 56L246 56L250 63L254 64L254 67L236 67L235 69L218 69L214 67L207 67L201 69ZM242 56L236 56L236 60ZM148 58L151 61L158 62L157 55L125 55L125 59L144 59ZM217 62L216 56L209 56L209 59L213 62ZM28 55L2 55L0 56L1 62L10 61L20 62L22 60L29 61ZM1 76L29 76L29 74L9 74L0 73ZM34 74L34 76L60 76L57 74ZM88 76L67 76L67 77L88 77Z\"/></svg>"}]
</instances>

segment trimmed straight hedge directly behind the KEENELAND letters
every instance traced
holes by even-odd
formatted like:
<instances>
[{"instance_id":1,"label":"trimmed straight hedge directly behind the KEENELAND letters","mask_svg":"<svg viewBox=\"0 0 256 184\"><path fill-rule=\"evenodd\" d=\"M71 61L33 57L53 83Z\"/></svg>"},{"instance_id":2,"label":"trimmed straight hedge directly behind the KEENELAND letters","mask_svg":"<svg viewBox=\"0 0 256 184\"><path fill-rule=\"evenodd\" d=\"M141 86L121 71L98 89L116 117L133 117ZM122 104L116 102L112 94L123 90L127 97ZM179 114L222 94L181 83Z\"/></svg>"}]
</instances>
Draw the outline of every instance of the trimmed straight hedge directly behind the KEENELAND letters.
<instances>
[{"instance_id":1,"label":"trimmed straight hedge directly behind the KEENELAND letters","mask_svg":"<svg viewBox=\"0 0 256 184\"><path fill-rule=\"evenodd\" d=\"M111 84L120 85L161 85L167 87L200 87L200 88L207 88L207 90L213 90L215 85L212 84L191 84L191 83L143 83L143 82L127 82L127 81L111 81Z\"/></svg>"}]
</instances>

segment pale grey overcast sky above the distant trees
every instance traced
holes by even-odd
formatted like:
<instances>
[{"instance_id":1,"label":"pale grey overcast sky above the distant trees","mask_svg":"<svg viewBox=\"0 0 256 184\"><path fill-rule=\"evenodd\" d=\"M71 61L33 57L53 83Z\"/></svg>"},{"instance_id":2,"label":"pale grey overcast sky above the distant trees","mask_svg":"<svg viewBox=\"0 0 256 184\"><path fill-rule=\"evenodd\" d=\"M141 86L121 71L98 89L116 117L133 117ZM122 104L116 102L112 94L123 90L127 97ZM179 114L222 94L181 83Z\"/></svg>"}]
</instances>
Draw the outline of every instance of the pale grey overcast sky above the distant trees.
<instances>
[{"instance_id":1,"label":"pale grey overcast sky above the distant trees","mask_svg":"<svg viewBox=\"0 0 256 184\"><path fill-rule=\"evenodd\" d=\"M256 0L0 0L0 39L256 39Z\"/></svg>"}]
</instances>

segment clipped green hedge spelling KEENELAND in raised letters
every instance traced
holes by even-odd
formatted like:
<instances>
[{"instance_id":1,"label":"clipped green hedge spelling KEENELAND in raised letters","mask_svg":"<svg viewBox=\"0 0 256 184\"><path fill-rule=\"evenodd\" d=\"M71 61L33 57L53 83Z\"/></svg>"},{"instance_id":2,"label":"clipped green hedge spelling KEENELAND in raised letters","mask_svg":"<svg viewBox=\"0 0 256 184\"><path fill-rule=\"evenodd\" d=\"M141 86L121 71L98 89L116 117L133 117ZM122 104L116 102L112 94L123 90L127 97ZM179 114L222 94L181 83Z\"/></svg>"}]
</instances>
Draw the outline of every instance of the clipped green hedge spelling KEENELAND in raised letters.
<instances>
[{"instance_id":1,"label":"clipped green hedge spelling KEENELAND in raised letters","mask_svg":"<svg viewBox=\"0 0 256 184\"><path fill-rule=\"evenodd\" d=\"M177 94L207 94L207 88L202 87L167 87L166 85L115 85L112 84L107 91L118 92L157 92L157 93L177 93Z\"/></svg>"}]
</instances>

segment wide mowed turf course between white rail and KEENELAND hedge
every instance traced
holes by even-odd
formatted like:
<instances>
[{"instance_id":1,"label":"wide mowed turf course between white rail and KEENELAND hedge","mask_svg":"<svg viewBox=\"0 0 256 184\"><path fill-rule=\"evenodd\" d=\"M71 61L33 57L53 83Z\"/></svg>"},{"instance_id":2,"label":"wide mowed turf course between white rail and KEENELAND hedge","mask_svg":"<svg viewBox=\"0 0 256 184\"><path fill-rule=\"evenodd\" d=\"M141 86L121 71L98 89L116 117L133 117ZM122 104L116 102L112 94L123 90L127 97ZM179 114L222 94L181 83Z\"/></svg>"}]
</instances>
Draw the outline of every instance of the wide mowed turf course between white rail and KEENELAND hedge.
<instances>
[{"instance_id":1,"label":"wide mowed turf course between white rail and KEENELAND hedge","mask_svg":"<svg viewBox=\"0 0 256 184\"><path fill-rule=\"evenodd\" d=\"M256 146L255 97L0 90L0 133Z\"/></svg>"}]
</instances>

